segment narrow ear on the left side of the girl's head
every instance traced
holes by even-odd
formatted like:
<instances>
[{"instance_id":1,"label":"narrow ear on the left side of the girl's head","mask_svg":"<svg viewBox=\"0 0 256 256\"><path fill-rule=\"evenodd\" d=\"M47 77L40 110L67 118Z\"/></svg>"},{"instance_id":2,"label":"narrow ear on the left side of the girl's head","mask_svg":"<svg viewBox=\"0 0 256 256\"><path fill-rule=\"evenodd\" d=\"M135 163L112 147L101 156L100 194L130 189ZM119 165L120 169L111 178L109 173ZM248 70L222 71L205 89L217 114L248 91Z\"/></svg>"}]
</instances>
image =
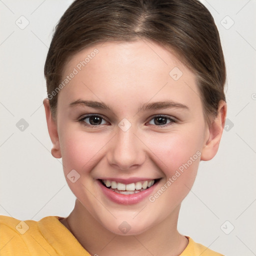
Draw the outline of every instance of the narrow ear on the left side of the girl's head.
<instances>
[{"instance_id":1,"label":"narrow ear on the left side of the girl's head","mask_svg":"<svg viewBox=\"0 0 256 256\"><path fill-rule=\"evenodd\" d=\"M61 152L60 152L60 144L59 144L58 131L57 131L57 122L51 115L50 104L47 98L43 100L43 105L45 109L45 115L46 115L46 121L48 126L48 132L50 135L50 140L53 144L51 148L51 154L55 158L60 158Z\"/></svg>"}]
</instances>

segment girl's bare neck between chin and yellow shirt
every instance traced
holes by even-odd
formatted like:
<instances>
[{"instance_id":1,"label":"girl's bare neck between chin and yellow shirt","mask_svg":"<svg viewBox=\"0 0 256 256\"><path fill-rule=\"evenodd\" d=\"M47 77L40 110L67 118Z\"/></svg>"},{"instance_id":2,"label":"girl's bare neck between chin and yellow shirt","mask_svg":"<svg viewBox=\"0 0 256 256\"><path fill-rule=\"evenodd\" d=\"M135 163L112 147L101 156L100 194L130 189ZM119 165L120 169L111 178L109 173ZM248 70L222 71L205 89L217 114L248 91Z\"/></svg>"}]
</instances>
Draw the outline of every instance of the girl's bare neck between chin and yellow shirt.
<instances>
[{"instance_id":1,"label":"girl's bare neck between chin and yellow shirt","mask_svg":"<svg viewBox=\"0 0 256 256\"><path fill-rule=\"evenodd\" d=\"M137 235L118 235L110 232L79 200L75 201L73 211L62 223L91 255L176 256L188 243L187 238L177 231L179 207L180 205L164 221Z\"/></svg>"}]
</instances>

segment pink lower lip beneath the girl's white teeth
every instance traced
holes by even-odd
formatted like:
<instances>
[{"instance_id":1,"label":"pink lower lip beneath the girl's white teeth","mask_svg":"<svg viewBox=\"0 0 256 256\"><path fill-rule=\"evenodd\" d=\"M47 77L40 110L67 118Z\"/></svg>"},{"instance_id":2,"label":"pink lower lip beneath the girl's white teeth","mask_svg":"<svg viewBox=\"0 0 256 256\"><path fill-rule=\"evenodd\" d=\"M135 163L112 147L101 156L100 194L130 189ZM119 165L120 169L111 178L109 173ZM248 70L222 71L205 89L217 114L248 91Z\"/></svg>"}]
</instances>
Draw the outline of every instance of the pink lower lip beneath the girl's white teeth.
<instances>
[{"instance_id":1,"label":"pink lower lip beneath the girl's white teeth","mask_svg":"<svg viewBox=\"0 0 256 256\"><path fill-rule=\"evenodd\" d=\"M112 191L109 188L106 188L100 180L97 180L100 188L102 189L103 193L106 195L106 197L108 197L111 201L116 202L118 204L135 204L138 203L140 201L142 201L143 199L145 199L146 197L148 197L150 195L150 193L152 193L152 190L154 189L155 185L157 184L153 184L152 186L148 187L147 189L140 191L138 193L134 193L134 194L120 194L120 193L116 193L114 191Z\"/></svg>"}]
</instances>

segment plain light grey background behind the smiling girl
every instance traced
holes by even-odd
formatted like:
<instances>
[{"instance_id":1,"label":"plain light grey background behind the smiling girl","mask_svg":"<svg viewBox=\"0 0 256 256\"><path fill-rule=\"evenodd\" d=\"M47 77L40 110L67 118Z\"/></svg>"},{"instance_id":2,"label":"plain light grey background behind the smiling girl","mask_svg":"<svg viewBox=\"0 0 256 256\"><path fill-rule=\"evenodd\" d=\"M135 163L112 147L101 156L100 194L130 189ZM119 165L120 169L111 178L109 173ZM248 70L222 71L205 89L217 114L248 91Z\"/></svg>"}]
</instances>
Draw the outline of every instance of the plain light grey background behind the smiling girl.
<instances>
[{"instance_id":1,"label":"plain light grey background behind the smiling girl","mask_svg":"<svg viewBox=\"0 0 256 256\"><path fill-rule=\"evenodd\" d=\"M67 216L74 205L61 159L50 154L42 105L43 65L52 29L71 2L0 0L2 215L39 220ZM199 165L178 228L226 255L251 256L256 255L256 0L203 3L221 36L228 119L217 155Z\"/></svg>"}]
</instances>

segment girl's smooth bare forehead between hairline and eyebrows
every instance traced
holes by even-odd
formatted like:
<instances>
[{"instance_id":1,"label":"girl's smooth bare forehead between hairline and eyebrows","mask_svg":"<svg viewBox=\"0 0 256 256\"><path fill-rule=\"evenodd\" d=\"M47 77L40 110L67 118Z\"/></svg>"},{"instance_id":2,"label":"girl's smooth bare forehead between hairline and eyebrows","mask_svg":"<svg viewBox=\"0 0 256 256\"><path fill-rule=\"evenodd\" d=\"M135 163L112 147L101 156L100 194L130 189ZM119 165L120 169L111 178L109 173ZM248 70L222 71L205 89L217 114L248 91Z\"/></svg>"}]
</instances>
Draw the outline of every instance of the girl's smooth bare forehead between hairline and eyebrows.
<instances>
[{"instance_id":1,"label":"girl's smooth bare forehead between hairline and eyebrows","mask_svg":"<svg viewBox=\"0 0 256 256\"><path fill-rule=\"evenodd\" d=\"M65 93L59 95L66 100L89 96L112 104L113 99L125 103L132 96L135 104L142 98L160 100L165 96L175 101L190 98L191 104L191 99L198 101L193 72L169 50L146 39L87 47L70 58L63 79L71 73L75 74L62 89Z\"/></svg>"}]
</instances>

